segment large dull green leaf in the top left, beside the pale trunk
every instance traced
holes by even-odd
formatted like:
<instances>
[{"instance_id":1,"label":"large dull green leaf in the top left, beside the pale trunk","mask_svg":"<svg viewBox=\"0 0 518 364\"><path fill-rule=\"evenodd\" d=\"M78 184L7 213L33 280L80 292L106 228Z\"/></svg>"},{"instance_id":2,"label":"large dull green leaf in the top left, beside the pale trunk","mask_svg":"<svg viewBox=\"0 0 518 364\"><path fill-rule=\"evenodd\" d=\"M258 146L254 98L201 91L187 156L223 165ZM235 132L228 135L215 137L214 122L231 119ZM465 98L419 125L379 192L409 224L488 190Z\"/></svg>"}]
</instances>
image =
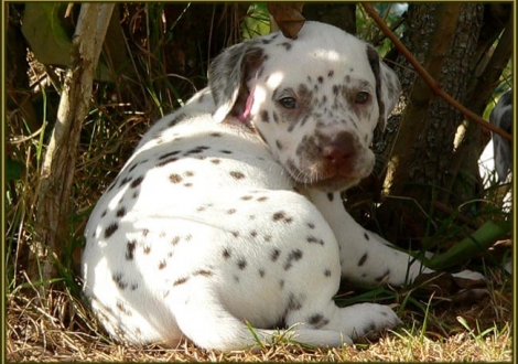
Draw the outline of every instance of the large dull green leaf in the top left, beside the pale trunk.
<instances>
[{"instance_id":1,"label":"large dull green leaf in the top left, beside the pale trunk","mask_svg":"<svg viewBox=\"0 0 518 364\"><path fill-rule=\"evenodd\" d=\"M60 15L67 6L67 2L25 3L22 33L43 64L67 65L69 62L72 41Z\"/></svg>"}]
</instances>

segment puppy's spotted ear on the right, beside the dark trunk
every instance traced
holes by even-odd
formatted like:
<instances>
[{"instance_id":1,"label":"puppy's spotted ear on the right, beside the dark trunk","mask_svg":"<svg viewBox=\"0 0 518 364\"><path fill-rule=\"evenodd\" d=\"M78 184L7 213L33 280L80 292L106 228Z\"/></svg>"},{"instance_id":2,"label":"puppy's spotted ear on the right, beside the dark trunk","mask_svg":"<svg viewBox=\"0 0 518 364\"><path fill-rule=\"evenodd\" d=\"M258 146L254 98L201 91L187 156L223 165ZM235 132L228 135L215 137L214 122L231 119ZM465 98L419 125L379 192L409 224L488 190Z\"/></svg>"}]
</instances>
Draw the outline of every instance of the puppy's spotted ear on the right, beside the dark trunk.
<instances>
[{"instance_id":1,"label":"puppy's spotted ear on the right, beside the dark trunk","mask_svg":"<svg viewBox=\"0 0 518 364\"><path fill-rule=\"evenodd\" d=\"M396 73L379 60L378 52L367 45L367 58L376 77L376 98L379 107L378 126L385 130L387 118L399 100L401 85Z\"/></svg>"}]
</instances>

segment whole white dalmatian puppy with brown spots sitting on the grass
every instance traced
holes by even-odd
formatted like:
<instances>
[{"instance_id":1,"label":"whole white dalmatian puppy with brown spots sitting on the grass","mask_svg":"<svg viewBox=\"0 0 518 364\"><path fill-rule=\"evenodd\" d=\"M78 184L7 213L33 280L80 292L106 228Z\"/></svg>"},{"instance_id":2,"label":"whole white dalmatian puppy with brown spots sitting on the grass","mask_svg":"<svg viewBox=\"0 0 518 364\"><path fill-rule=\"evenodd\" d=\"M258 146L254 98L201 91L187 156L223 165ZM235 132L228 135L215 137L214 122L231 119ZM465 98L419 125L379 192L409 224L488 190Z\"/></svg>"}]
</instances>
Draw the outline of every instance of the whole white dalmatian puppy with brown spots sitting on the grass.
<instances>
[{"instance_id":1,"label":"whole white dalmatian puppy with brown spots sitting on the grass","mask_svg":"<svg viewBox=\"0 0 518 364\"><path fill-rule=\"evenodd\" d=\"M208 88L150 128L86 226L84 292L107 331L231 351L397 325L387 306L333 296L341 277L401 286L430 271L339 196L370 173L373 130L398 94L374 47L322 23L216 57Z\"/></svg>"}]
</instances>

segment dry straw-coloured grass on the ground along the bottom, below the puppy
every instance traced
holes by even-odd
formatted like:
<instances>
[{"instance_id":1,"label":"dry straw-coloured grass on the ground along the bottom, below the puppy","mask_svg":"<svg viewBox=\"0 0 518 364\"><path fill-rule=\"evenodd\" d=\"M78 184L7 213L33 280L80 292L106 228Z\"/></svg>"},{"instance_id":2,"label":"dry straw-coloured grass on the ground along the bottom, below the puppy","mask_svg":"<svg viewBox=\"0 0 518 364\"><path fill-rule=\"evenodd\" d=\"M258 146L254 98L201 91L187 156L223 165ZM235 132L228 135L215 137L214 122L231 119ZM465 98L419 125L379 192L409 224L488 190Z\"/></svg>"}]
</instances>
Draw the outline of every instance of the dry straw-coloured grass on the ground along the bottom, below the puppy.
<instances>
[{"instance_id":1,"label":"dry straw-coloured grass on the ground along the bottom, below the puppy","mask_svg":"<svg viewBox=\"0 0 518 364\"><path fill-rule=\"evenodd\" d=\"M19 290L7 300L9 362L510 362L511 292L493 270L490 295L471 307L440 304L422 317L406 309L406 322L378 341L355 347L309 349L279 341L258 351L219 353L182 342L176 349L125 346L111 341L83 302L63 290ZM462 324L456 318L463 318ZM425 326L423 329L423 322Z\"/></svg>"}]
</instances>

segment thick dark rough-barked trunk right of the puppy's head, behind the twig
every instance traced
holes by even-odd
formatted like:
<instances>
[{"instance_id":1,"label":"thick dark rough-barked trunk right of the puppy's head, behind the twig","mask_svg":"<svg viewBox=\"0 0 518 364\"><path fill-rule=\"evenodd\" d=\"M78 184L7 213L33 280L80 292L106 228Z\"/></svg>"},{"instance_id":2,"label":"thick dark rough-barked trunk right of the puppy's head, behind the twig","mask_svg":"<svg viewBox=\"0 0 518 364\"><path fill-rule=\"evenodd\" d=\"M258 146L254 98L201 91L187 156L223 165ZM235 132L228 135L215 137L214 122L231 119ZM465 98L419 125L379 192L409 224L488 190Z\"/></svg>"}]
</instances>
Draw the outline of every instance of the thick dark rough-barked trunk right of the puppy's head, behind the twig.
<instances>
[{"instance_id":1,"label":"thick dark rough-barked trunk right of the puppy's head, behind the twig","mask_svg":"<svg viewBox=\"0 0 518 364\"><path fill-rule=\"evenodd\" d=\"M477 49L484 6L477 3L410 4L403 43L460 103L466 103L471 61ZM435 97L408 62L399 57L406 103L389 158L378 217L390 240L424 236L428 214L449 180L454 137L464 117ZM390 150L390 148L387 148Z\"/></svg>"}]
</instances>

